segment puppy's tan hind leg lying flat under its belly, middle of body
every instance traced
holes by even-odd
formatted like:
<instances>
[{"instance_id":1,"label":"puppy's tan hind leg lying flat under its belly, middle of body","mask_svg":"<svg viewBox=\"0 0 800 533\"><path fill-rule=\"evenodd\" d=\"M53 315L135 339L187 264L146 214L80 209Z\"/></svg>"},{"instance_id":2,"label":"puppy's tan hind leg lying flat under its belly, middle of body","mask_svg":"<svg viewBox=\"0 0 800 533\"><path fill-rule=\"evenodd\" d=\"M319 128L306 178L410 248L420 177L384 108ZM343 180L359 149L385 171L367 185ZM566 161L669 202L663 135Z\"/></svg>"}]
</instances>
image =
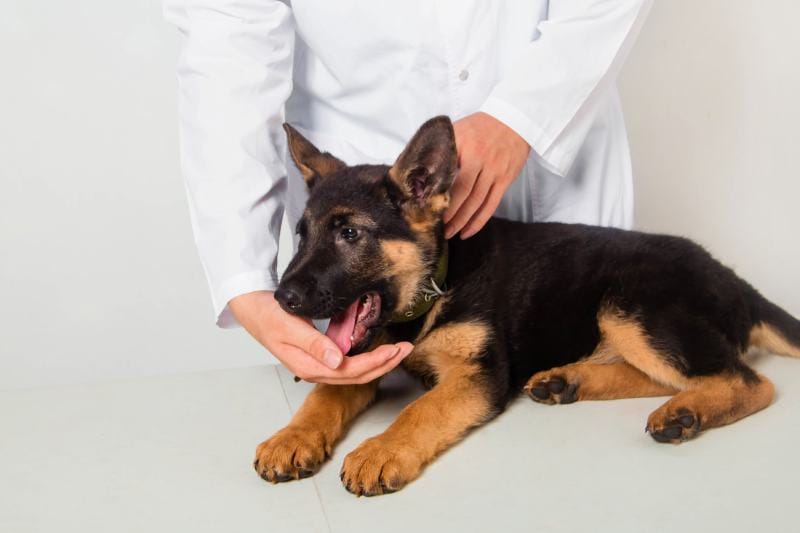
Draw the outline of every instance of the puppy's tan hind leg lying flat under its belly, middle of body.
<instances>
[{"instance_id":1,"label":"puppy's tan hind leg lying flat under its belly, middle of body","mask_svg":"<svg viewBox=\"0 0 800 533\"><path fill-rule=\"evenodd\" d=\"M578 400L672 396L678 392L674 387L652 380L624 361L585 361L537 372L523 390L534 401L550 405Z\"/></svg>"}]
</instances>

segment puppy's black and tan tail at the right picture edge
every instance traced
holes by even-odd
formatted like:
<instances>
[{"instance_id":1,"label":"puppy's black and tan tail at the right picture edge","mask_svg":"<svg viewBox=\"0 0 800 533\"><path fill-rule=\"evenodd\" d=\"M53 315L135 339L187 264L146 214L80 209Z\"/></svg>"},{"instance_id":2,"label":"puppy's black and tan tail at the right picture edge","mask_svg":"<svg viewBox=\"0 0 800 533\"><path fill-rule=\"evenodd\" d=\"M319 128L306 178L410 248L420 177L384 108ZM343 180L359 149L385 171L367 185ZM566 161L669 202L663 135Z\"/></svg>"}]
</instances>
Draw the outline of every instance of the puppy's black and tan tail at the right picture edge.
<instances>
[{"instance_id":1,"label":"puppy's black and tan tail at the right picture edge","mask_svg":"<svg viewBox=\"0 0 800 533\"><path fill-rule=\"evenodd\" d=\"M755 294L750 345L770 352L800 357L800 320Z\"/></svg>"}]
</instances>

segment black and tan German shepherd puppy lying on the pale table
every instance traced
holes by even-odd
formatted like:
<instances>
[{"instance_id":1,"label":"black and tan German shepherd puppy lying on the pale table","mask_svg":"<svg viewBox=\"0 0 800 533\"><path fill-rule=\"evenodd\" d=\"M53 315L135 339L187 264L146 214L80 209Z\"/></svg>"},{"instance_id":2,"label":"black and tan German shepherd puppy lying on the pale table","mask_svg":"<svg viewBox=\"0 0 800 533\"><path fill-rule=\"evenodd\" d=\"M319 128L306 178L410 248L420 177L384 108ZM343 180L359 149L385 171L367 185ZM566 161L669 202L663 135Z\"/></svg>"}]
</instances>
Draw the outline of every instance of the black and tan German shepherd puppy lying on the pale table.
<instances>
[{"instance_id":1,"label":"black and tan German shepherd puppy lying on the pale table","mask_svg":"<svg viewBox=\"0 0 800 533\"><path fill-rule=\"evenodd\" d=\"M800 357L800 322L687 239L494 218L448 245L458 164L447 117L426 122L391 167L347 166L285 129L309 199L276 299L332 318L348 355L413 342L402 365L429 387L345 458L354 494L400 489L520 389L545 404L671 396L647 431L679 443L769 405L772 383L742 360L751 346ZM258 447L257 472L314 474L376 390L317 385Z\"/></svg>"}]
</instances>

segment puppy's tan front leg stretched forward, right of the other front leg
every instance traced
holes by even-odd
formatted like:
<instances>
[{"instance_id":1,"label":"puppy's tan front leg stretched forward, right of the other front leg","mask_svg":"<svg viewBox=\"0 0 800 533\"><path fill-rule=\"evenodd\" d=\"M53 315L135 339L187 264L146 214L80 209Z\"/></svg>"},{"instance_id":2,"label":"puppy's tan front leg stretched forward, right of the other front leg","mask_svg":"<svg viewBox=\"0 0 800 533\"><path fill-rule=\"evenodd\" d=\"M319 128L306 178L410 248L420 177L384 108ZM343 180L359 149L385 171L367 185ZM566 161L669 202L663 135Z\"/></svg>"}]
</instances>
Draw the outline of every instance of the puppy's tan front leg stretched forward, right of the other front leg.
<instances>
[{"instance_id":1,"label":"puppy's tan front leg stretched forward, right of the other front leg","mask_svg":"<svg viewBox=\"0 0 800 533\"><path fill-rule=\"evenodd\" d=\"M384 433L364 441L345 458L342 483L358 496L394 492L495 413L476 368L454 368L406 407Z\"/></svg>"}]
</instances>

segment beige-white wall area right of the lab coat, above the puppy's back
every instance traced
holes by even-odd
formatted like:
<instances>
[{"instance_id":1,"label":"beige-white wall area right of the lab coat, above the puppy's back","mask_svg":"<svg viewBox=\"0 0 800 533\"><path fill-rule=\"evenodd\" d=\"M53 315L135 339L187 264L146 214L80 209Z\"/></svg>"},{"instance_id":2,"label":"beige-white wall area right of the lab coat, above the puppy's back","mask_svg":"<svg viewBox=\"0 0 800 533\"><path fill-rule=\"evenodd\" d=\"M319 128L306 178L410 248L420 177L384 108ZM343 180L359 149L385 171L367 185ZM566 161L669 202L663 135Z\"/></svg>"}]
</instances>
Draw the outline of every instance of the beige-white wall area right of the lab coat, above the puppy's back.
<instances>
[{"instance_id":1,"label":"beige-white wall area right of the lab coat, above the puppy's back","mask_svg":"<svg viewBox=\"0 0 800 533\"><path fill-rule=\"evenodd\" d=\"M637 226L800 317L800 2L656 0L620 80Z\"/></svg>"}]
</instances>

